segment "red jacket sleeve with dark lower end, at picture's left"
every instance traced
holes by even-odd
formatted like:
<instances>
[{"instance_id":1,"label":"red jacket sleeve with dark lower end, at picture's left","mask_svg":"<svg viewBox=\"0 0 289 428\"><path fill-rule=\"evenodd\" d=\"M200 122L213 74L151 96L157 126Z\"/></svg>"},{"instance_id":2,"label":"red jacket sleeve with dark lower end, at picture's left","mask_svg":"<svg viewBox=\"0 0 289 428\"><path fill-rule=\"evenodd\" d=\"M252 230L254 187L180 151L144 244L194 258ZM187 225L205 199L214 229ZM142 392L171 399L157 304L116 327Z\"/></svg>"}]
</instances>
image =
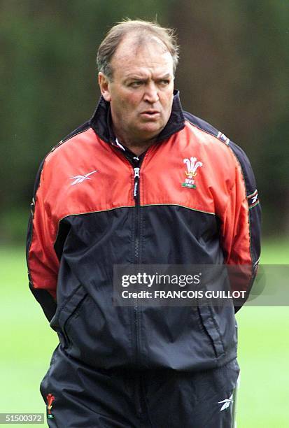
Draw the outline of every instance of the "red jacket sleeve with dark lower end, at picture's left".
<instances>
[{"instance_id":1,"label":"red jacket sleeve with dark lower end, at picture's left","mask_svg":"<svg viewBox=\"0 0 289 428\"><path fill-rule=\"evenodd\" d=\"M59 261L53 248L55 226L46 203L45 161L36 176L27 232L29 287L50 321L56 311L56 285Z\"/></svg>"}]
</instances>

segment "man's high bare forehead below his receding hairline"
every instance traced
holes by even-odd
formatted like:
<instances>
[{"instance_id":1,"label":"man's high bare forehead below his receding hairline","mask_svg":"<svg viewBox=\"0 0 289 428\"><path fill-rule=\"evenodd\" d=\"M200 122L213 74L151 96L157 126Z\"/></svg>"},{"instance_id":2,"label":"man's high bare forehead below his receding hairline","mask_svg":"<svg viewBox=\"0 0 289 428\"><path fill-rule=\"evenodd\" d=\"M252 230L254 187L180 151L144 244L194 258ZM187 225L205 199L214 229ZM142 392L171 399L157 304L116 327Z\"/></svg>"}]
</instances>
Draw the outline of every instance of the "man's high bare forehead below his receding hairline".
<instances>
[{"instance_id":1,"label":"man's high bare forehead below his receding hairline","mask_svg":"<svg viewBox=\"0 0 289 428\"><path fill-rule=\"evenodd\" d=\"M127 77L131 74L173 74L173 59L160 39L150 36L127 35L120 42L111 59L113 76Z\"/></svg>"}]
</instances>

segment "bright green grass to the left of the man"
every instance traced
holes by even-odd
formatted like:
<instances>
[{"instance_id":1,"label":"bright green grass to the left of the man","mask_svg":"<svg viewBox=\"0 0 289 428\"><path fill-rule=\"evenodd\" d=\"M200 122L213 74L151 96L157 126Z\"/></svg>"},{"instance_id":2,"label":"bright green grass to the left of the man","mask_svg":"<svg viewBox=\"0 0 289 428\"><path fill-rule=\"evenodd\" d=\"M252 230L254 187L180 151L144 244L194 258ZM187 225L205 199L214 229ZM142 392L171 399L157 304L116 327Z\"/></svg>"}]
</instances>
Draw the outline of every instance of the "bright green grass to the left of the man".
<instances>
[{"instance_id":1,"label":"bright green grass to the left of the man","mask_svg":"<svg viewBox=\"0 0 289 428\"><path fill-rule=\"evenodd\" d=\"M27 287L24 250L1 248L0 266L0 413L45 413L38 385L57 336Z\"/></svg>"}]
</instances>

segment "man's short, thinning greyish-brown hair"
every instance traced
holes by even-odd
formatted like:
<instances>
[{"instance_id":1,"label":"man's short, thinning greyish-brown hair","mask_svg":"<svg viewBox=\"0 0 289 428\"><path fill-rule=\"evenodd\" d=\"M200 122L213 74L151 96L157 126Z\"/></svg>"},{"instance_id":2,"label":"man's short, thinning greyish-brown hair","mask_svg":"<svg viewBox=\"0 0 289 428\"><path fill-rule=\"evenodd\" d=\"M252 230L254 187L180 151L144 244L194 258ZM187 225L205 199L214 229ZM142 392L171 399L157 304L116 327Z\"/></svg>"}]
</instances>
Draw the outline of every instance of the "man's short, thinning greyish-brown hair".
<instances>
[{"instance_id":1,"label":"man's short, thinning greyish-brown hair","mask_svg":"<svg viewBox=\"0 0 289 428\"><path fill-rule=\"evenodd\" d=\"M161 27L157 22L125 19L121 22L117 22L108 31L97 51L97 68L104 73L109 80L113 78L111 59L122 39L131 32L135 32L141 39L143 39L143 36L148 35L158 38L171 54L174 73L176 72L176 66L178 64L178 45L176 43L174 29Z\"/></svg>"}]
</instances>

